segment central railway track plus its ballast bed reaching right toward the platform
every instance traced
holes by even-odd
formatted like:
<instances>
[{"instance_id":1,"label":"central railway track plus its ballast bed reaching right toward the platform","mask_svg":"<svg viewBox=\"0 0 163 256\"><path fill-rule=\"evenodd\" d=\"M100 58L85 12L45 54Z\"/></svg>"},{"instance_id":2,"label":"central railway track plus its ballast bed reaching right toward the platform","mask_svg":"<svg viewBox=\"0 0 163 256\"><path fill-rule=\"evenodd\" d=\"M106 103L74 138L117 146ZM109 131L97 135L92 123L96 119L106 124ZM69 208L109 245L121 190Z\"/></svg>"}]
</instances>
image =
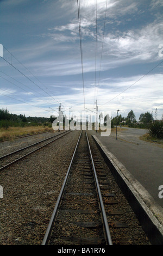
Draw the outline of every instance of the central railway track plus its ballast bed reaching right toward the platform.
<instances>
[{"instance_id":1,"label":"central railway track plus its ballast bed reaching right toward the platform","mask_svg":"<svg viewBox=\"0 0 163 256\"><path fill-rule=\"evenodd\" d=\"M86 131L80 133L42 245L149 245Z\"/></svg>"}]
</instances>

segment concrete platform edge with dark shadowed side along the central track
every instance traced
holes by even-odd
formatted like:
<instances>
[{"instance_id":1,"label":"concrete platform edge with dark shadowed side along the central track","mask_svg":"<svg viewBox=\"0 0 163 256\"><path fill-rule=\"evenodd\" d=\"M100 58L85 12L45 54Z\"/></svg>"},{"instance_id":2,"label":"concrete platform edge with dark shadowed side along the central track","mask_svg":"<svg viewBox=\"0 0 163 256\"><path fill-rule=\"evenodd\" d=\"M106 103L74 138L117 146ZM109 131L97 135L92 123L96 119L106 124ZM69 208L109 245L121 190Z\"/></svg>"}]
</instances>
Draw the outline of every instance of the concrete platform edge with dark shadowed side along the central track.
<instances>
[{"instance_id":1,"label":"concrete platform edge with dark shadowed side along the central track","mask_svg":"<svg viewBox=\"0 0 163 256\"><path fill-rule=\"evenodd\" d=\"M140 182L106 149L101 141L95 135L92 135L92 138L96 142L99 151L101 151L118 186L126 196L149 241L152 245L163 245L163 209L154 202L154 199Z\"/></svg>"}]
</instances>

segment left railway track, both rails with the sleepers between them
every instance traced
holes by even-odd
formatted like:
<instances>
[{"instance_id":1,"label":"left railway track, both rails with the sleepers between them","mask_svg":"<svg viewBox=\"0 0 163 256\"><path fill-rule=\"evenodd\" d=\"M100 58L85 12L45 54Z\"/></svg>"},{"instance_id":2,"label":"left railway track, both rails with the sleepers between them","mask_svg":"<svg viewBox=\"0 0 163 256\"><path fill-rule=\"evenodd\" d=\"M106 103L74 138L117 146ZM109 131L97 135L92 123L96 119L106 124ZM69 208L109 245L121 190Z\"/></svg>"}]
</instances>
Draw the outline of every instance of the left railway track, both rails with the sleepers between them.
<instances>
[{"instance_id":1,"label":"left railway track, both rails with the sleepers between them","mask_svg":"<svg viewBox=\"0 0 163 256\"><path fill-rule=\"evenodd\" d=\"M36 142L34 144L28 145L27 147L24 147L24 148L14 151L14 152L11 152L7 155L1 156L0 157L0 172L2 170L12 166L12 164L15 164L16 162L24 159L25 157L34 153L35 151L37 151L43 147L46 147L48 144L65 136L69 132L71 132L71 130L61 132L57 135L51 136L49 138L43 139L42 141Z\"/></svg>"}]
</instances>

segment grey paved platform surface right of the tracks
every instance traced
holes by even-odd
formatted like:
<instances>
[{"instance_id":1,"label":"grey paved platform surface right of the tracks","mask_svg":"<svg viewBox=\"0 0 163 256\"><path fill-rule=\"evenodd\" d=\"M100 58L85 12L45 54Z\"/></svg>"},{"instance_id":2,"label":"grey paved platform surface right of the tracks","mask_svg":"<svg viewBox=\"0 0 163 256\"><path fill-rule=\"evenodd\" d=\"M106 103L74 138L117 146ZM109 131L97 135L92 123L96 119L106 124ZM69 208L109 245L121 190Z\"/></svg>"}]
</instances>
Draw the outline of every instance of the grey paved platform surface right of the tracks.
<instances>
[{"instance_id":1,"label":"grey paved platform surface right of the tracks","mask_svg":"<svg viewBox=\"0 0 163 256\"><path fill-rule=\"evenodd\" d=\"M103 145L128 169L128 171L146 188L155 202L163 208L158 189L163 185L163 148L159 144L141 141L140 136L147 130L122 128L110 136L102 137L91 131Z\"/></svg>"}]
</instances>

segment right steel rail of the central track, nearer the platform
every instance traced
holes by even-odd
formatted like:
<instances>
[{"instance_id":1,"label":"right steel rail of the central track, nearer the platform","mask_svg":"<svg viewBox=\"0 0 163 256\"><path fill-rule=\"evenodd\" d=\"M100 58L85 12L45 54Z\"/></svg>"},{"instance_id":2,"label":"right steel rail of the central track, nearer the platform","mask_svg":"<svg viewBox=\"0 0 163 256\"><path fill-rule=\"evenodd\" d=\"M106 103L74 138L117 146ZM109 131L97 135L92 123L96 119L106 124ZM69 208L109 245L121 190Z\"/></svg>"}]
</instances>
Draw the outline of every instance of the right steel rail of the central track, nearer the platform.
<instances>
[{"instance_id":1,"label":"right steel rail of the central track, nearer the platform","mask_svg":"<svg viewBox=\"0 0 163 256\"><path fill-rule=\"evenodd\" d=\"M86 131L85 131L85 133L86 133ZM89 145L90 156L91 156L92 167L93 167L93 173L94 173L94 176L95 176L96 187L97 187L97 192L98 192L98 197L99 197L99 203L100 203L100 205L101 205L101 210L102 210L102 217L103 217L104 228L105 228L105 233L106 233L106 240L107 240L107 242L108 242L108 245L112 245L112 240L111 240L111 235L110 235L108 220L107 220L106 213L105 213L105 208L104 208L104 204L103 204L103 199L102 199L102 195L101 195L101 190L100 190L100 188L99 188L99 183L98 183L98 178L97 178L97 174L96 174L95 164L94 164L94 162L93 162L93 157L92 157L91 148L90 148L90 143L89 143L89 139L88 139L88 137L87 137L87 133L86 133L86 138L87 138L87 143L88 143L88 145Z\"/></svg>"}]
</instances>

